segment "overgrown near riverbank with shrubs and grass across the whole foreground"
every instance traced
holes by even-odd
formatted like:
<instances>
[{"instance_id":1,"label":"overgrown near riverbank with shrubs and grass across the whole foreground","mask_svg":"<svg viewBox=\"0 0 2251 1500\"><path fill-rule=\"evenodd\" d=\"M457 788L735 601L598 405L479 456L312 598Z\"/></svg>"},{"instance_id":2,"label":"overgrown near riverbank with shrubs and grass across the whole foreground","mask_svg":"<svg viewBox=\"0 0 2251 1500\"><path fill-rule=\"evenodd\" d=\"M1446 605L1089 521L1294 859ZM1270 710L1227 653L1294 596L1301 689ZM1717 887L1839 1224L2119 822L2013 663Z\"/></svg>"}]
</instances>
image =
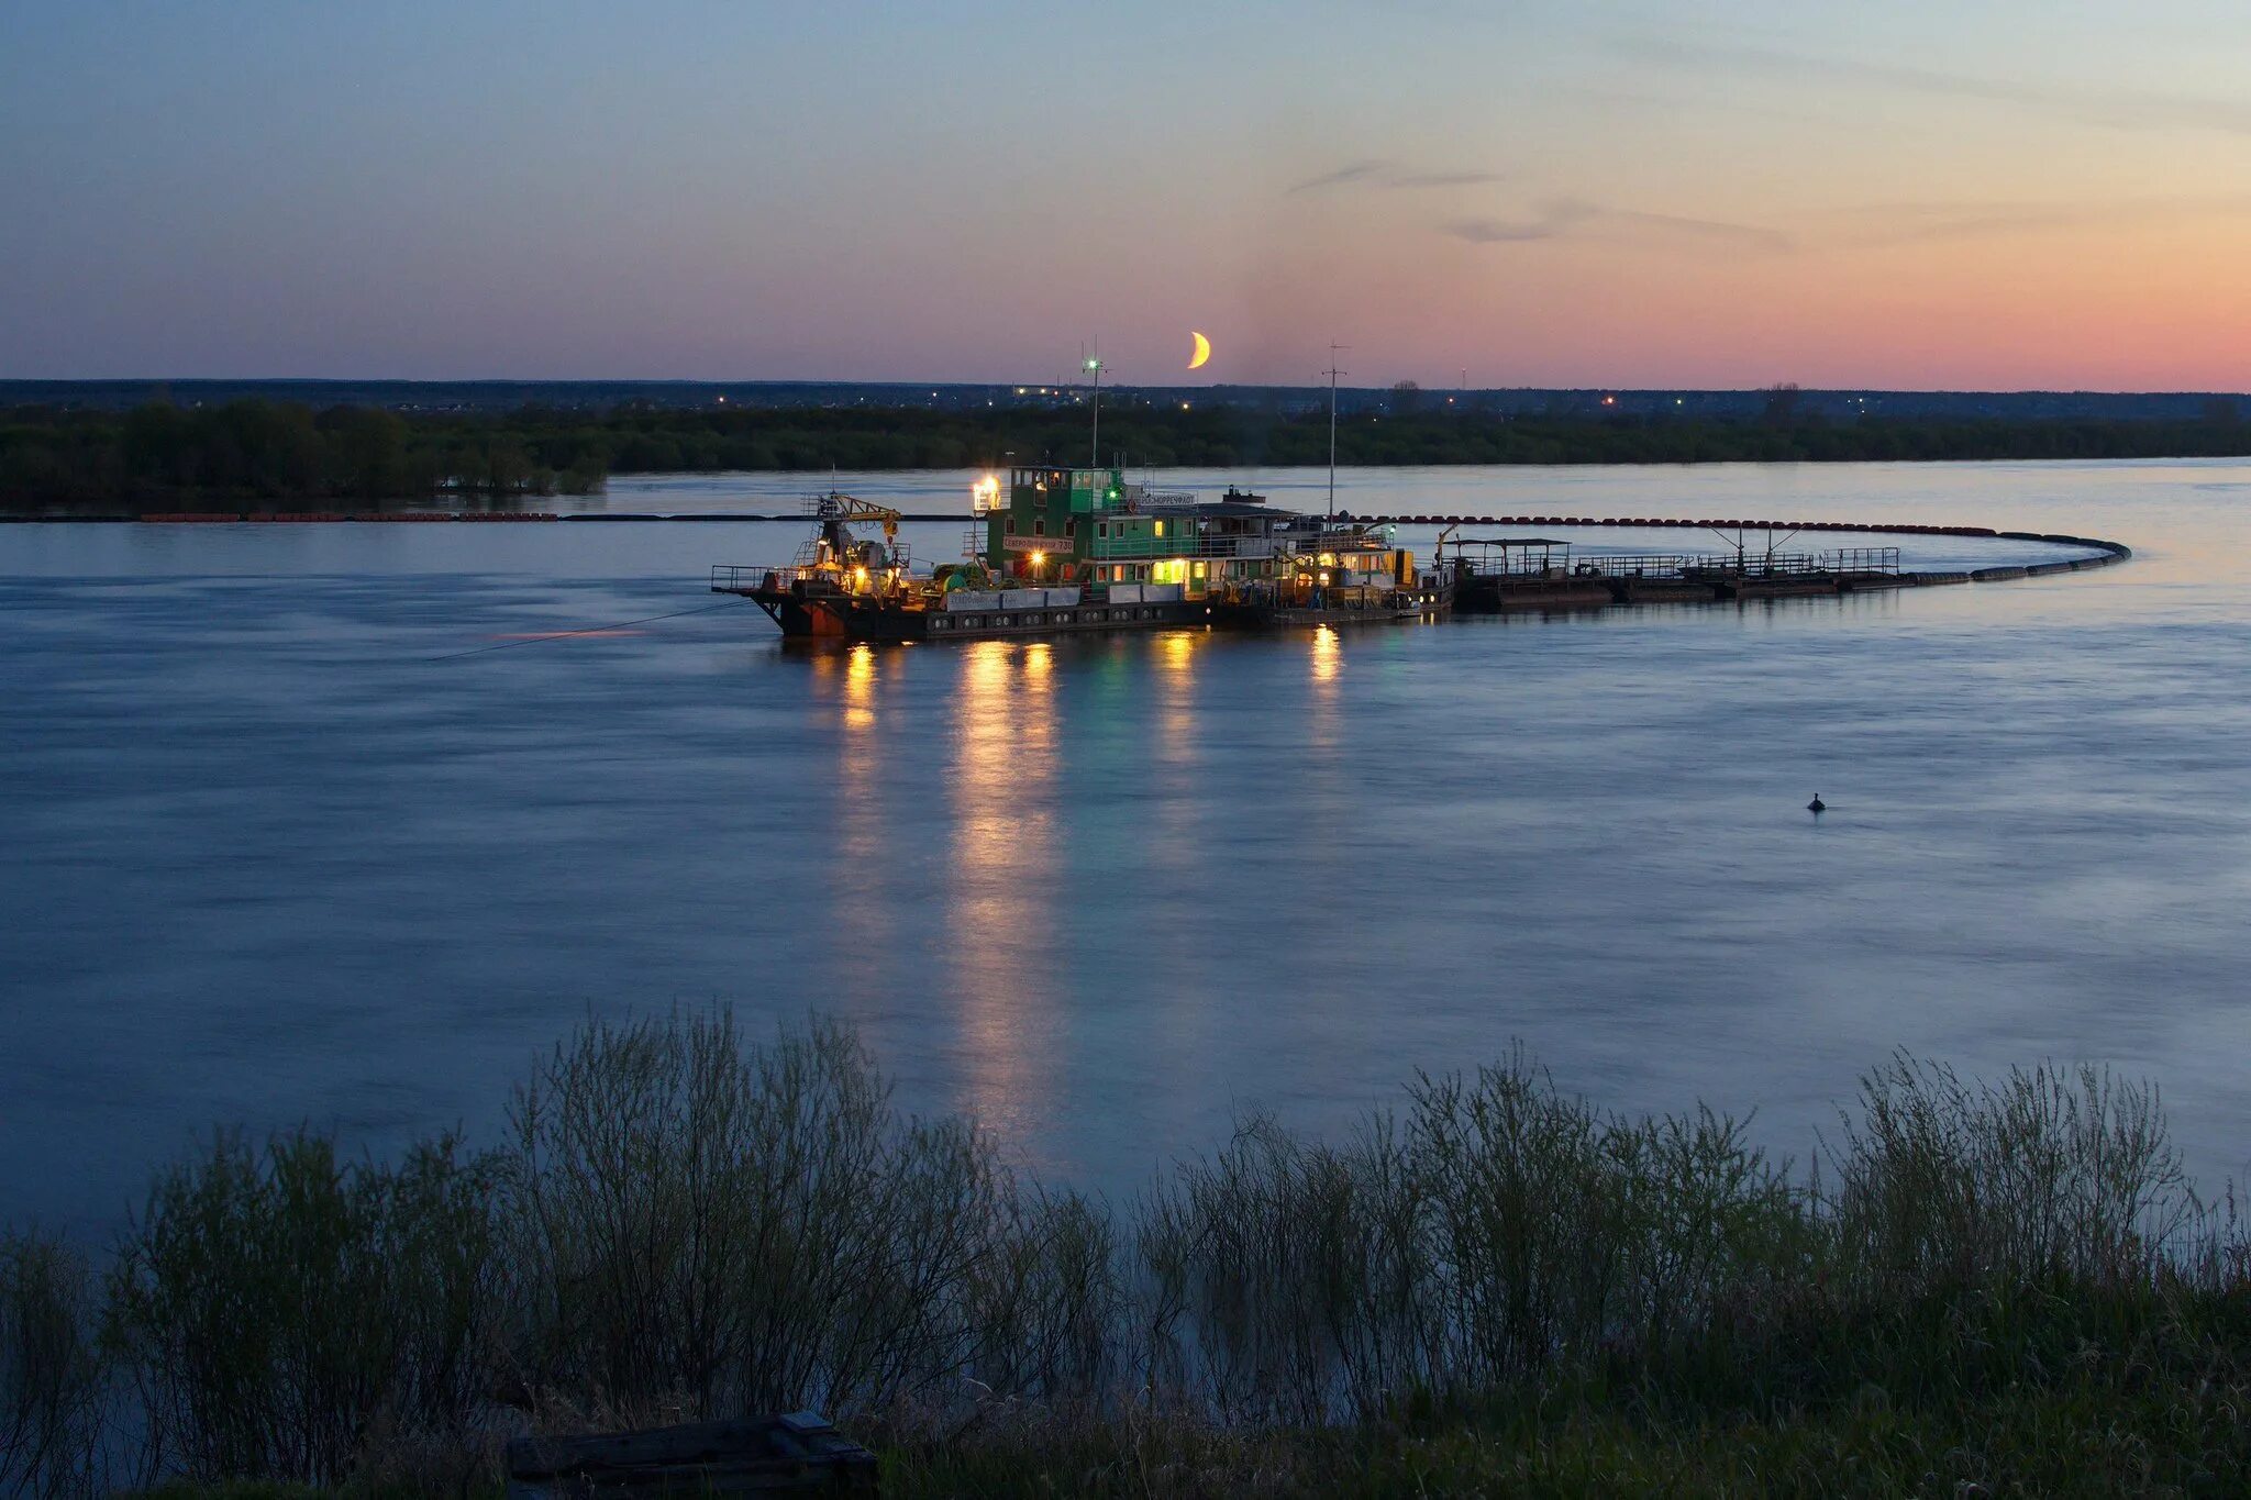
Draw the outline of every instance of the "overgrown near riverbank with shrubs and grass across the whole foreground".
<instances>
[{"instance_id":1,"label":"overgrown near riverbank with shrubs and grass across the whole foreground","mask_svg":"<svg viewBox=\"0 0 2251 1500\"><path fill-rule=\"evenodd\" d=\"M891 1496L2251 1475L2251 1241L2093 1068L1895 1057L1796 1167L1517 1052L1119 1205L822 1023L594 1023L506 1113L394 1160L223 1133L99 1268L11 1237L0 1484L491 1491L511 1433L808 1406Z\"/></svg>"}]
</instances>

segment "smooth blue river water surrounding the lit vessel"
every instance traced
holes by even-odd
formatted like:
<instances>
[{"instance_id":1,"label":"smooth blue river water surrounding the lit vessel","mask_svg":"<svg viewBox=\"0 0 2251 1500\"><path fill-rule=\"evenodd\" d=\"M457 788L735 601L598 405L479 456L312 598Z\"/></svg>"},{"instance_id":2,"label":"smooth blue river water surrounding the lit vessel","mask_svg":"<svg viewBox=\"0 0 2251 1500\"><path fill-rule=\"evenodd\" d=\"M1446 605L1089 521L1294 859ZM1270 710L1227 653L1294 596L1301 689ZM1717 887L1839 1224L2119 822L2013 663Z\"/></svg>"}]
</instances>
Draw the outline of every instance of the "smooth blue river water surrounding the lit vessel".
<instances>
[{"instance_id":1,"label":"smooth blue river water surrounding the lit vessel","mask_svg":"<svg viewBox=\"0 0 2251 1500\"><path fill-rule=\"evenodd\" d=\"M968 477L840 481L934 508ZM1339 1129L1510 1039L1612 1106L1758 1109L1796 1156L1891 1048L2098 1059L2163 1086L2208 1185L2251 1169L2251 468L1387 470L1344 499L2138 555L1344 636L806 652L741 605L434 659L711 603L709 562L799 533L7 526L0 1219L99 1232L214 1122L488 1136L583 1016L709 1001L846 1016L912 1106L1112 1192L1236 1111ZM914 540L950 558L959 526Z\"/></svg>"}]
</instances>

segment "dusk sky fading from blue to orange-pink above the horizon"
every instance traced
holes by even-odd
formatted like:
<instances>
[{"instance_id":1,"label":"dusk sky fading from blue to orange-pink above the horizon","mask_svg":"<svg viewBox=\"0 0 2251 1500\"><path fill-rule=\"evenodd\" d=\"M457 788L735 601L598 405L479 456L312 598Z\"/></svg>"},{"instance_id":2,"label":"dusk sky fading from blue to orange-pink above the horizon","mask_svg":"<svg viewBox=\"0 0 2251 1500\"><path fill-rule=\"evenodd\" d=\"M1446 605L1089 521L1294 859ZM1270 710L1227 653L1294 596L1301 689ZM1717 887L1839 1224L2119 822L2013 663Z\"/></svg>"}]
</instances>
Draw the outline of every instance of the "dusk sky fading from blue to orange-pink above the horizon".
<instances>
[{"instance_id":1,"label":"dusk sky fading from blue to orange-pink above the horizon","mask_svg":"<svg viewBox=\"0 0 2251 1500\"><path fill-rule=\"evenodd\" d=\"M2246 389L2246 22L0 0L0 378Z\"/></svg>"}]
</instances>

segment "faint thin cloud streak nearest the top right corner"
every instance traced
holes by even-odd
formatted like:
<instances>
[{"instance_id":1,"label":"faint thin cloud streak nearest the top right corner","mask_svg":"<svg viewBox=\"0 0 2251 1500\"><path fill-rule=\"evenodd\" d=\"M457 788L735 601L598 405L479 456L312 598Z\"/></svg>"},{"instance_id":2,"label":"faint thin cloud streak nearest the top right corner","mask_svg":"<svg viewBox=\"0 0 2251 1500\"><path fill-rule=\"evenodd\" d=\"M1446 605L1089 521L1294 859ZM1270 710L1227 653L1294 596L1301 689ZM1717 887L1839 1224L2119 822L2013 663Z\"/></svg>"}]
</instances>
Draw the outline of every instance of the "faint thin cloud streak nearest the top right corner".
<instances>
[{"instance_id":1,"label":"faint thin cloud streak nearest the top right corner","mask_svg":"<svg viewBox=\"0 0 2251 1500\"><path fill-rule=\"evenodd\" d=\"M2075 119L2114 130L2219 130L2251 135L2251 101L2199 94L2152 94L2055 83L2012 83L1972 74L1907 67L1900 63L1859 63L1850 58L1808 56L1769 47L1711 47L1679 40L1618 38L1614 47L1627 56L1659 63L1688 63L1729 72L1772 76L1828 76L1848 83L1898 88L1936 99L1974 99L2042 115Z\"/></svg>"}]
</instances>

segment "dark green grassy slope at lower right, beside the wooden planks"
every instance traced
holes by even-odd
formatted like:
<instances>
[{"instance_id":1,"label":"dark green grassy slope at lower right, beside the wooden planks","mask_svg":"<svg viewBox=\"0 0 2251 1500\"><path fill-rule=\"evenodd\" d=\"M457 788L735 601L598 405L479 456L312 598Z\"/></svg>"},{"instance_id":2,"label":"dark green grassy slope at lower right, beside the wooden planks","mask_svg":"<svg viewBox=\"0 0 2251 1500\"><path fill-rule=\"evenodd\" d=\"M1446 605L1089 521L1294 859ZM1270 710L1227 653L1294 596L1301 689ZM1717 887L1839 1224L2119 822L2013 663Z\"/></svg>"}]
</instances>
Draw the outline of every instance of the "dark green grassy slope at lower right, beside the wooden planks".
<instances>
[{"instance_id":1,"label":"dark green grassy slope at lower right, beside the wooden planks","mask_svg":"<svg viewBox=\"0 0 2251 1500\"><path fill-rule=\"evenodd\" d=\"M1015 1412L885 1453L905 1498L2246 1491L2244 1295L2071 1286L1713 1334L1470 1410L1299 1430Z\"/></svg>"}]
</instances>

